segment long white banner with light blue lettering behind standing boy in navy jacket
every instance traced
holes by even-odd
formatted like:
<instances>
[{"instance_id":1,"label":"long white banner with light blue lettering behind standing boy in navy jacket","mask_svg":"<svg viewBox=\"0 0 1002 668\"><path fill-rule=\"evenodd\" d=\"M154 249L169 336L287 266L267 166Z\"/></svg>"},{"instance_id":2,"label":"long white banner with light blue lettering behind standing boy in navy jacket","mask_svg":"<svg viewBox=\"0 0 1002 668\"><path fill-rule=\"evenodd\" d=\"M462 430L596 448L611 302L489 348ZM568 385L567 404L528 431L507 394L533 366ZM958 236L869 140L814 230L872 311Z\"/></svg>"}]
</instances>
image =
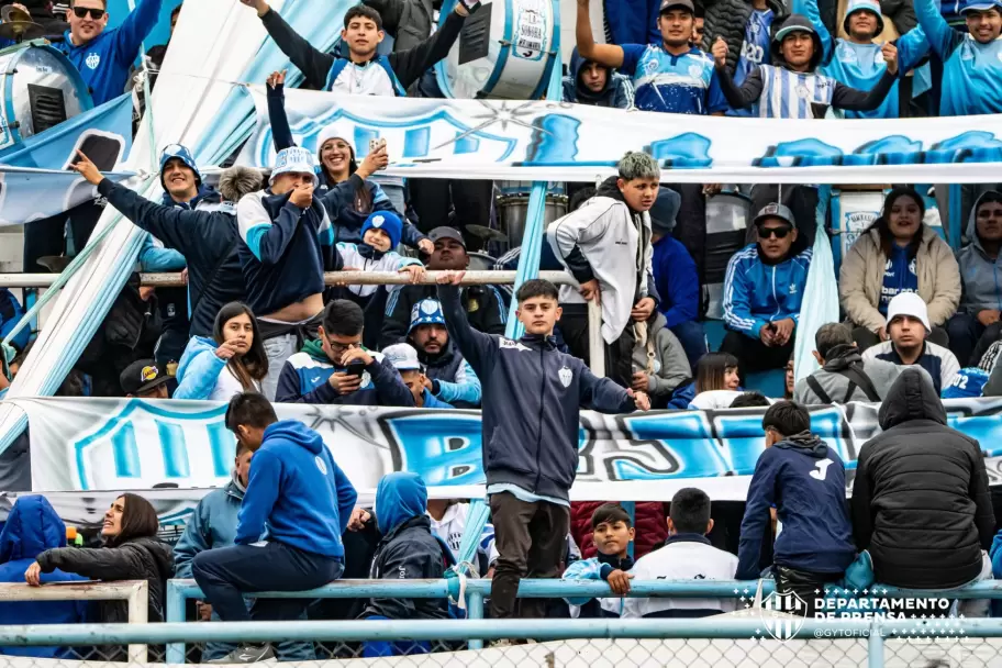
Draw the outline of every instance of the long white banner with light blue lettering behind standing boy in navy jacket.
<instances>
[{"instance_id":1,"label":"long white banner with light blue lettering behind standing boy in navy jacket","mask_svg":"<svg viewBox=\"0 0 1002 668\"><path fill-rule=\"evenodd\" d=\"M16 399L29 415L32 489L76 492L151 490L175 499L185 489L230 479L234 439L225 404L138 399ZM1002 400L947 403L949 423L978 438L992 483L1002 483ZM855 467L860 447L879 433L877 405L811 408L812 430ZM276 404L280 420L316 430L359 490L391 471L420 474L431 488L482 494L479 411ZM647 500L650 483L670 499L668 482L714 490L714 499L744 500L747 476L765 447L762 409L581 414L574 498ZM851 477L849 478L851 480ZM164 489L180 488L180 489ZM158 488L158 489L154 489ZM583 491L582 491L583 490ZM658 492L655 492L658 493ZM639 497L637 499L636 497Z\"/></svg>"}]
</instances>

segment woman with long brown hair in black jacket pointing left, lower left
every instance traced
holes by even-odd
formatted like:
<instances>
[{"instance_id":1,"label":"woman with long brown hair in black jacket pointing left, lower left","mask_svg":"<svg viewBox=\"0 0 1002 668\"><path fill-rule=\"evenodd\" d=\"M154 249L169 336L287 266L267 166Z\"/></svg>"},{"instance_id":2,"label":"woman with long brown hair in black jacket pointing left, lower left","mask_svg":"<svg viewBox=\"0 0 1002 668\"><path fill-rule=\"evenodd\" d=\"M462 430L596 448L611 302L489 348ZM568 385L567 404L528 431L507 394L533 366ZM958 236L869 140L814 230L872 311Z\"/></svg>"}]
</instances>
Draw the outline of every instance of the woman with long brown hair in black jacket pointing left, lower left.
<instances>
[{"instance_id":1,"label":"woman with long brown hair in black jacket pointing left, lower left","mask_svg":"<svg viewBox=\"0 0 1002 668\"><path fill-rule=\"evenodd\" d=\"M103 547L46 549L24 571L24 580L38 587L41 574L57 568L105 582L146 580L149 584L147 619L163 622L167 580L174 575L174 555L170 546L157 538L158 528L157 514L149 501L126 492L104 513ZM101 601L98 606L102 623L129 622L125 601Z\"/></svg>"}]
</instances>

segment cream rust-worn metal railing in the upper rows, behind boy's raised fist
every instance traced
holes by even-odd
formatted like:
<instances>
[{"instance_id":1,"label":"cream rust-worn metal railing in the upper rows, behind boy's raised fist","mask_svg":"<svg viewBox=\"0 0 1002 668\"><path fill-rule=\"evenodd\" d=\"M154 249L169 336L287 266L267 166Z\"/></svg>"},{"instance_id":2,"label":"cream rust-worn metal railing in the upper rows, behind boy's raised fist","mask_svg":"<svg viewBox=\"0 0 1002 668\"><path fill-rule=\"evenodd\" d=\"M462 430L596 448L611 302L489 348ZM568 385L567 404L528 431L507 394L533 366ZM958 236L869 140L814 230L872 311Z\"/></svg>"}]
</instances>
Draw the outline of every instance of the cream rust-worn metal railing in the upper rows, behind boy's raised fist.
<instances>
[{"instance_id":1,"label":"cream rust-worn metal railing in the upper rows, behind boy's raised fist","mask_svg":"<svg viewBox=\"0 0 1002 668\"><path fill-rule=\"evenodd\" d=\"M426 271L417 285L435 285L441 271ZM515 271L467 271L464 286L514 285ZM0 274L0 288L47 288L58 279L58 274ZM577 286L578 281L566 271L539 271L539 278L557 286ZM326 286L400 286L411 285L410 275L394 271L327 271ZM140 274L140 285L154 288L175 288L187 285L181 274ZM588 302L588 350L592 374L605 376L605 354L602 343L602 307L594 300Z\"/></svg>"}]
</instances>

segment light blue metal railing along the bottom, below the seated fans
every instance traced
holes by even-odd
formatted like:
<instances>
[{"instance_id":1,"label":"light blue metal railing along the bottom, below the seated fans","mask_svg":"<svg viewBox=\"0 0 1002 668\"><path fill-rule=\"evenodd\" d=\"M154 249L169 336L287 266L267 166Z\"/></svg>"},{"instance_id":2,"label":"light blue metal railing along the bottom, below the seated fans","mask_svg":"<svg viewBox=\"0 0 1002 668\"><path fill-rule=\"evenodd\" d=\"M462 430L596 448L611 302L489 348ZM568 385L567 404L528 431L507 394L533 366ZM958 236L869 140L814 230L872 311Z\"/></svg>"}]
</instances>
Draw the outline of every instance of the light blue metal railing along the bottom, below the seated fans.
<instances>
[{"instance_id":1,"label":"light blue metal railing along the bottom, below the seated fans","mask_svg":"<svg viewBox=\"0 0 1002 668\"><path fill-rule=\"evenodd\" d=\"M773 590L772 580L762 580L762 595L768 595ZM285 599L368 599L368 598L401 598L401 599L444 599L450 597L453 600L458 600L460 595L459 591L459 580L456 578L443 579L443 580L338 580L325 587L319 589L313 589L310 591L297 591L297 592L267 592L267 593L256 593L255 597L260 598L285 598ZM536 639L560 639L560 638L571 638L571 637L615 637L610 635L587 635L587 630L595 628L595 620L535 620L531 623L526 623L526 626L522 630L527 633L527 635L519 636L516 633L505 633L497 632L489 635L481 635L479 630L481 627L493 628L494 625L500 624L499 620L491 620L489 622L480 622L483 620L483 599L490 594L490 580L467 580L465 594L466 594L466 605L467 605L467 616L468 620L465 621L450 621L443 622L438 620L437 622L428 622L428 624L434 624L439 635L430 636L432 639L461 639L468 641L470 649L480 649L482 647L482 641L493 639L493 638L504 638L504 637L533 637ZM966 587L960 587L957 589L950 590L908 590L900 589L895 587L883 587L875 586L876 589L871 589L872 594L879 595L880 598L888 599L938 599L938 598L948 598L948 599L1002 599L1002 580L986 580L982 582L976 582L973 584L968 584ZM752 598L755 595L755 592L758 588L757 580L634 580L631 583L631 591L627 594L630 598L647 598L647 597L673 597L673 598L738 598L746 597ZM519 597L521 598L537 598L537 599L549 599L549 598L601 598L601 597L612 597L614 595L609 586L604 582L599 581L586 581L586 580L522 580L519 586ZM201 628L203 626L240 626L241 628L248 625L248 623L240 624L225 624L222 622L216 622L213 624L183 624L185 622L185 601L188 599L198 599L202 598L203 593L199 589L198 584L194 583L194 580L169 580L167 582L167 614L166 622L167 625L176 625L185 628ZM633 620L631 620L633 621ZM643 621L643 620L636 620ZM657 623L664 624L670 620L657 620ZM737 621L737 620L734 620ZM485 626L468 626L470 622L478 622L485 624ZM724 630L725 633L732 633L732 635L692 635L691 637L734 637L734 638L749 638L750 635L733 635L738 633L733 631L733 626L730 625L730 621L724 623L724 619L717 619L716 624L711 624L711 627L715 628L720 626ZM811 622L811 620L809 620ZM838 626L837 623L842 621L826 620L824 622L824 628L834 630L843 628ZM369 633L371 624L376 622L363 622L365 626L363 631L352 631L350 633ZM336 639L399 639L399 638L411 638L411 639L424 639L419 636L411 635L410 633L404 633L402 624L419 624L420 622L393 622L398 626L393 626L398 631L399 635L393 638L376 636L376 635L363 635L361 637L353 636L352 638L346 637L326 637L323 634L318 636L311 636L309 633L303 633L297 637L290 637L286 635L287 631L282 627L281 633L275 635L272 630L276 628L274 622L260 622L254 623L255 628L259 630L260 635L256 637L260 638L271 638L272 641L292 641L292 639L315 639L315 641L336 641ZM465 628L465 632L456 632L458 635L454 638L453 631L449 631L448 634L443 634L445 628L454 628L454 624L460 623ZM566 624L572 624L571 627L568 627ZM862 627L869 627L868 621L862 621ZM290 623L292 624L292 623ZM339 623L332 622L296 622L297 627L303 628L315 628L315 624L324 625L324 628L330 627L332 624L335 626ZM356 622L349 622L349 624L357 624ZM583 624L583 625L582 625ZM591 624L589 626L588 624ZM761 621L756 620L757 626L761 626ZM834 625L833 625L834 624ZM1002 620L999 621L1000 635L1002 635ZM508 626L503 626L508 628ZM357 628L352 626L352 628ZM471 628L477 630L477 633L472 633ZM574 628L574 631L567 631L568 628ZM611 627L603 627L611 628ZM644 626L637 626L637 630L645 628ZM673 628L673 626L671 626ZM688 626L682 626L682 628L689 628ZM728 631L731 630L731 631ZM522 632L520 631L520 633ZM739 627L741 633L745 632L745 627ZM586 632L586 635L581 635L582 632ZM631 631L631 633L639 633L639 631ZM248 632L249 633L249 632ZM344 631L344 633L349 633L349 631ZM463 635L466 633L467 635ZM666 633L669 633L666 631ZM684 636L683 631L678 632L679 635L622 635L620 637L687 637ZM323 637L321 637L323 636ZM556 637L556 636L559 636ZM0 638L4 637L0 634ZM76 636L74 636L76 637ZM240 639L246 639L244 636ZM811 636L813 637L813 636ZM157 638L149 642L166 642L167 645L167 663L168 664L181 664L185 661L185 643L186 642L201 642L201 641L232 641L233 637L227 638L216 638L213 637L202 637L201 632L199 634L191 635L178 635L171 638ZM44 644L44 643L37 643ZM58 644L58 643L49 643ZM63 641L62 644L66 644L66 641ZM3 645L0 642L0 645Z\"/></svg>"}]
</instances>

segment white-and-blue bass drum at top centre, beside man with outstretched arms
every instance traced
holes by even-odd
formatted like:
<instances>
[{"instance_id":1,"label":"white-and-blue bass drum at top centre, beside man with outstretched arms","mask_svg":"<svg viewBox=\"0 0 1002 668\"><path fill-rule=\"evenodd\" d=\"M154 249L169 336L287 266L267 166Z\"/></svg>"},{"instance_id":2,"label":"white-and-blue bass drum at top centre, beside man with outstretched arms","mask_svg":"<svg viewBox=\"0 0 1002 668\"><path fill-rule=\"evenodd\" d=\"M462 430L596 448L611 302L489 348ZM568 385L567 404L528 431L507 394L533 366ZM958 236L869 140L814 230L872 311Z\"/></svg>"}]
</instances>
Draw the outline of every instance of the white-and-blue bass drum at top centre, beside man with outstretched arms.
<instances>
[{"instance_id":1,"label":"white-and-blue bass drum at top centre, beside man with outstretched arms","mask_svg":"<svg viewBox=\"0 0 1002 668\"><path fill-rule=\"evenodd\" d=\"M559 0L482 0L435 66L446 98L541 100L557 58ZM439 24L456 5L444 0Z\"/></svg>"}]
</instances>

